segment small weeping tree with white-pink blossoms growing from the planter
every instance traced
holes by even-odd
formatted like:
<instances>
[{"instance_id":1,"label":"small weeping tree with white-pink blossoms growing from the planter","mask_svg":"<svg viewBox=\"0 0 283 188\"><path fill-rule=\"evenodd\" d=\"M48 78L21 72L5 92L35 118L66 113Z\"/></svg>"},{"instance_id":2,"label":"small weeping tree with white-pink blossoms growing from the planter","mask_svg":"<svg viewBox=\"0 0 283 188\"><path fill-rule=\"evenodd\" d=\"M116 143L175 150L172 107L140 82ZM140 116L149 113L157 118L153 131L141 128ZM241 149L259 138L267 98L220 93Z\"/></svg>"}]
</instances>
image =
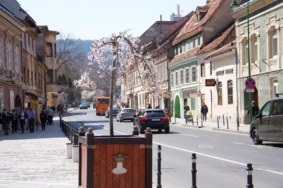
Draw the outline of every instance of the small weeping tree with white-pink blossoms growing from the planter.
<instances>
[{"instance_id":1,"label":"small weeping tree with white-pink blossoms growing from the planter","mask_svg":"<svg viewBox=\"0 0 283 188\"><path fill-rule=\"evenodd\" d=\"M138 49L140 39L132 37L128 31L120 32L118 35L112 33L110 37L101 38L93 41L91 51L88 53L89 68L83 73L81 79L75 80L76 87L96 87L89 78L91 71L97 71L100 77L109 76L111 78L110 86L110 137L113 132L113 90L115 83L125 85L127 82L133 83L130 78L129 69L134 64L138 69L137 79L141 80L142 90L149 91L148 98L155 96L160 98L159 75L155 69L153 59L150 55L143 56L144 47ZM110 53L109 53L110 52ZM111 54L111 55L105 55ZM111 61L111 65L107 62ZM97 63L98 66L94 66ZM110 70L110 71L107 71ZM107 72L111 72L108 74Z\"/></svg>"}]
</instances>

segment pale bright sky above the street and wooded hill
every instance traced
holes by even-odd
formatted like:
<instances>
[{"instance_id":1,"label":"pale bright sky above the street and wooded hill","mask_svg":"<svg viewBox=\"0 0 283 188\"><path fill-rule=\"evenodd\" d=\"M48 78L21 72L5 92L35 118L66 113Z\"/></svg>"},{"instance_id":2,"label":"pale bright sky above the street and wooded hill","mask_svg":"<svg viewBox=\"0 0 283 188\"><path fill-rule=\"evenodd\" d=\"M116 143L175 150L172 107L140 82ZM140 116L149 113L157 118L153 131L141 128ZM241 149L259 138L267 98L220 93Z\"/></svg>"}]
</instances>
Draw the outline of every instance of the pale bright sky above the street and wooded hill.
<instances>
[{"instance_id":1,"label":"pale bright sky above the street and wooded hill","mask_svg":"<svg viewBox=\"0 0 283 188\"><path fill-rule=\"evenodd\" d=\"M170 21L180 4L180 14L185 16L204 6L206 0L17 0L22 9L38 26L49 30L71 32L75 38L99 39L130 29L135 37L141 36L154 22Z\"/></svg>"}]
</instances>

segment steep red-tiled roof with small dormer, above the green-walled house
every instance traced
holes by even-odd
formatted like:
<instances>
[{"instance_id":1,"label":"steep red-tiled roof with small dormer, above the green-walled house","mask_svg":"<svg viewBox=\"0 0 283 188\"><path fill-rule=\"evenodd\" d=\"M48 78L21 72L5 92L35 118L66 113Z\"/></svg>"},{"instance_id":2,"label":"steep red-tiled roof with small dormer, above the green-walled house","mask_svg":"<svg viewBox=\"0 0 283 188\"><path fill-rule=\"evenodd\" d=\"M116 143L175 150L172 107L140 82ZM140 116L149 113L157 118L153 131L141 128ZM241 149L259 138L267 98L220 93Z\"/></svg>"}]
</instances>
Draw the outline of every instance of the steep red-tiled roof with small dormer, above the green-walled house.
<instances>
[{"instance_id":1,"label":"steep red-tiled roof with small dormer, above the green-walled house","mask_svg":"<svg viewBox=\"0 0 283 188\"><path fill-rule=\"evenodd\" d=\"M172 45L181 42L182 40L185 40L186 38L189 38L197 33L199 33L202 30L202 26L210 20L212 15L215 13L215 11L218 9L218 7L221 5L221 3L225 0L213 0L208 2L205 6L198 7L198 9L201 9L201 11L206 11L205 16L203 19L201 19L199 22L195 22L195 14L192 15L189 21L185 24L185 26L180 30L179 34L176 36L176 38L173 40Z\"/></svg>"}]
</instances>

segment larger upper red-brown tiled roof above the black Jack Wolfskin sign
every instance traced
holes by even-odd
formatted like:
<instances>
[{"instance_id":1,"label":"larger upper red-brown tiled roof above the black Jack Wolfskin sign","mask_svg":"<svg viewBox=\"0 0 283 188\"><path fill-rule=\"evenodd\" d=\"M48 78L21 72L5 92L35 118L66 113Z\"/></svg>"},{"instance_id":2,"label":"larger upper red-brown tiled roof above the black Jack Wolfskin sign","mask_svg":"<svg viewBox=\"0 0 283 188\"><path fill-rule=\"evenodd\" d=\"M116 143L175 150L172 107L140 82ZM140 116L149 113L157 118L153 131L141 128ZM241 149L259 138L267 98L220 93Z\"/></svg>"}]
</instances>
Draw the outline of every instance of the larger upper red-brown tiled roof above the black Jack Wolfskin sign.
<instances>
[{"instance_id":1,"label":"larger upper red-brown tiled roof above the black Jack Wolfskin sign","mask_svg":"<svg viewBox=\"0 0 283 188\"><path fill-rule=\"evenodd\" d=\"M215 38L211 43L203 47L198 54L207 52L213 49L219 49L223 46L226 46L227 44L230 44L236 39L236 29L235 29L235 21L233 21L227 28L225 28L225 31L221 33L220 36Z\"/></svg>"}]
</instances>

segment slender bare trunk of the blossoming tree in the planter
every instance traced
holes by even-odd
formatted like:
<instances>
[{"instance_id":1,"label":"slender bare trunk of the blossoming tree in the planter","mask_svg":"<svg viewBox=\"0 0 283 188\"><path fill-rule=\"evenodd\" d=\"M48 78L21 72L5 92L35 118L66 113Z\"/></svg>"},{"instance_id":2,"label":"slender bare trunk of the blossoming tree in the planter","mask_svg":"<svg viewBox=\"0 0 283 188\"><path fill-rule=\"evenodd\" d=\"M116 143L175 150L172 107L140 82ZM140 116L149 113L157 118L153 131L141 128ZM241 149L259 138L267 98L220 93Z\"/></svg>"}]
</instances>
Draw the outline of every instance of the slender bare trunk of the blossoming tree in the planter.
<instances>
[{"instance_id":1,"label":"slender bare trunk of the blossoming tree in the planter","mask_svg":"<svg viewBox=\"0 0 283 188\"><path fill-rule=\"evenodd\" d=\"M113 53L113 56L116 56L116 52ZM112 67L116 67L116 59L112 62ZM114 95L114 80L115 80L115 69L111 72L111 85L110 85L110 137L114 137L113 130L113 95Z\"/></svg>"}]
</instances>

